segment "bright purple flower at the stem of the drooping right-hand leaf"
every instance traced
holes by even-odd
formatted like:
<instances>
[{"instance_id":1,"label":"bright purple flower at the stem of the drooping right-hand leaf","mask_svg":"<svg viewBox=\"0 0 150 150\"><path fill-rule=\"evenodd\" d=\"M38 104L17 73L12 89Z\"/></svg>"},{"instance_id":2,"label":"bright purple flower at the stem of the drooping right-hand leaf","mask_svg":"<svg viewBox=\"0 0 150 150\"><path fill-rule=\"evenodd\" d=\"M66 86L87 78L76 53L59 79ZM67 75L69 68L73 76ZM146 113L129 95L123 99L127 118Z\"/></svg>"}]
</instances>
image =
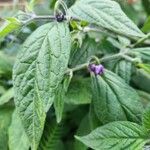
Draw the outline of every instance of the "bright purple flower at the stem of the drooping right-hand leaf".
<instances>
[{"instance_id":1,"label":"bright purple flower at the stem of the drooping right-hand leaf","mask_svg":"<svg viewBox=\"0 0 150 150\"><path fill-rule=\"evenodd\" d=\"M93 72L95 75L101 75L104 73L104 66L103 65L90 64L89 70L91 72Z\"/></svg>"}]
</instances>

